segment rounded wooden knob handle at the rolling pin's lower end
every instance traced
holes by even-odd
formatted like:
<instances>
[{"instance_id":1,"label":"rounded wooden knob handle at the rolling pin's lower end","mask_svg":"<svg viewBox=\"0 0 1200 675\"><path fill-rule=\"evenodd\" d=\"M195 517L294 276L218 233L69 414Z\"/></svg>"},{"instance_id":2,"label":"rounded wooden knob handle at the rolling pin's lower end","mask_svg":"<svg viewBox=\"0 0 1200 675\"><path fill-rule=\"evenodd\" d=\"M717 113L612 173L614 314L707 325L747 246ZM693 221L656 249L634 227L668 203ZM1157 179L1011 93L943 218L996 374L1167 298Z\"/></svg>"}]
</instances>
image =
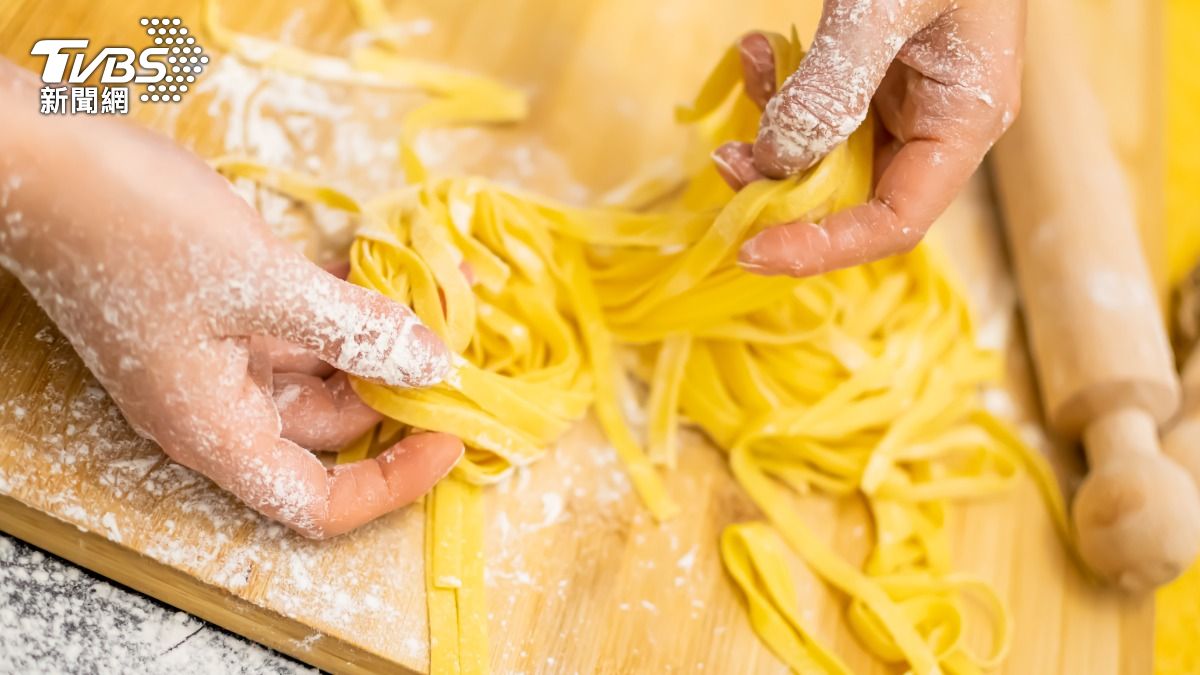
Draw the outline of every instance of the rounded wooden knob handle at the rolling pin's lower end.
<instances>
[{"instance_id":1,"label":"rounded wooden knob handle at the rolling pin's lower end","mask_svg":"<svg viewBox=\"0 0 1200 675\"><path fill-rule=\"evenodd\" d=\"M1091 471L1073 518L1084 560L1130 591L1164 584L1200 552L1200 491L1159 452L1146 411L1127 407L1084 430Z\"/></svg>"}]
</instances>

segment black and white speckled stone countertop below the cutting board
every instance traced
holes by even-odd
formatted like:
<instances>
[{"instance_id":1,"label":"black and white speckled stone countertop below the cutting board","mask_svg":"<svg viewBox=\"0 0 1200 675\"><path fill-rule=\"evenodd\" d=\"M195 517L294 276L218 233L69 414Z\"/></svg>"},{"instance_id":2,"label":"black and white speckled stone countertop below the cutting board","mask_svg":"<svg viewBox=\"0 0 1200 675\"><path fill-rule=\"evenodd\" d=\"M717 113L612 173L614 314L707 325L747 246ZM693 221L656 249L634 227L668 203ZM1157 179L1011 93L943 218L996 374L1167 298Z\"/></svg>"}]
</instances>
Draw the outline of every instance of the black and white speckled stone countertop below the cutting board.
<instances>
[{"instance_id":1,"label":"black and white speckled stone countertop below the cutting board","mask_svg":"<svg viewBox=\"0 0 1200 675\"><path fill-rule=\"evenodd\" d=\"M0 534L0 673L314 670Z\"/></svg>"}]
</instances>

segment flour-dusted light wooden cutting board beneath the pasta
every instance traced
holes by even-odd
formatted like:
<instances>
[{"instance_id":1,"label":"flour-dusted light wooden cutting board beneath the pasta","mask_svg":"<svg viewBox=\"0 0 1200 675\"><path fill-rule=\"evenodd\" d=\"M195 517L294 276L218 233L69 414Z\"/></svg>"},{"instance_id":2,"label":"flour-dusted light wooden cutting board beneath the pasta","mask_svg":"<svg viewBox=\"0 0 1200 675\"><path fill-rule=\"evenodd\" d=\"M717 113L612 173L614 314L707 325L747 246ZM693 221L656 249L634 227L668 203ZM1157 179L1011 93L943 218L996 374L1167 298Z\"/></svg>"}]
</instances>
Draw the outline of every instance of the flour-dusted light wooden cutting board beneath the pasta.
<instances>
[{"instance_id":1,"label":"flour-dusted light wooden cutting board beneath the pasta","mask_svg":"<svg viewBox=\"0 0 1200 675\"><path fill-rule=\"evenodd\" d=\"M330 53L353 43L352 14L337 2L222 5L227 22L247 32ZM791 22L810 35L817 4L792 5L427 0L403 2L395 13L414 54L494 74L533 96L532 119L521 127L432 133L424 151L440 155L431 157L436 167L586 201L640 167L678 155L684 137L671 123L672 106L695 90L737 35L786 30ZM32 0L7 0L0 2L0 49L38 70L28 55L35 40L144 44L137 23L144 16L179 16L199 29L192 1L62 0L49 11ZM194 96L173 107L134 103L131 117L203 156L248 150L319 169L358 193L395 180L388 162L394 151L382 139L412 96L380 102L336 88L322 92L216 56ZM346 113L352 117L332 125L320 119L343 108L353 108ZM367 121L349 121L359 117ZM1145 132L1145 124L1139 129ZM319 214L319 234L289 226L311 214L269 197L253 195L283 235L311 251L344 238L346 223ZM995 400L1038 441L992 214L986 183L977 177L936 227L937 239L962 263L989 339L1010 354L1009 395ZM666 525L640 507L590 422L544 461L488 491L487 601L497 673L786 670L750 629L715 548L725 525L756 512L720 452L696 434L685 440L668 485L686 508ZM1055 453L1052 444L1044 447ZM1054 456L1069 483L1074 456ZM865 554L870 528L860 503L808 498L802 508L845 555ZM1015 616L1004 671L1150 670L1152 603L1085 581L1031 485L954 509L950 527L958 567L991 581ZM325 669L427 665L420 506L324 543L266 522L137 438L4 274L0 530ZM844 599L797 568L804 579L799 602L816 635L856 671L890 673L848 633Z\"/></svg>"}]
</instances>

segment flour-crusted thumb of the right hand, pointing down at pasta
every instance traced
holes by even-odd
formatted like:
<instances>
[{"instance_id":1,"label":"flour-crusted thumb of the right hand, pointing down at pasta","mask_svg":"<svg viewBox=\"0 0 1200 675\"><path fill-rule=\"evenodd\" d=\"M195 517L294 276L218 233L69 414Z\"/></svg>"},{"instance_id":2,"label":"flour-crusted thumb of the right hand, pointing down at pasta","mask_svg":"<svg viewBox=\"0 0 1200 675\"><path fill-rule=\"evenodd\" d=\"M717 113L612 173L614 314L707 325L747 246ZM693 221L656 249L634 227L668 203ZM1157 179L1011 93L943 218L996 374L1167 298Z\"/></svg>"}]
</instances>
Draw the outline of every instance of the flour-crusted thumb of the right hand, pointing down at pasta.
<instances>
[{"instance_id":1,"label":"flour-crusted thumb of the right hand, pointing down at pasta","mask_svg":"<svg viewBox=\"0 0 1200 675\"><path fill-rule=\"evenodd\" d=\"M804 171L866 118L875 90L900 48L944 0L826 0L812 48L767 102L754 145L769 178Z\"/></svg>"}]
</instances>

